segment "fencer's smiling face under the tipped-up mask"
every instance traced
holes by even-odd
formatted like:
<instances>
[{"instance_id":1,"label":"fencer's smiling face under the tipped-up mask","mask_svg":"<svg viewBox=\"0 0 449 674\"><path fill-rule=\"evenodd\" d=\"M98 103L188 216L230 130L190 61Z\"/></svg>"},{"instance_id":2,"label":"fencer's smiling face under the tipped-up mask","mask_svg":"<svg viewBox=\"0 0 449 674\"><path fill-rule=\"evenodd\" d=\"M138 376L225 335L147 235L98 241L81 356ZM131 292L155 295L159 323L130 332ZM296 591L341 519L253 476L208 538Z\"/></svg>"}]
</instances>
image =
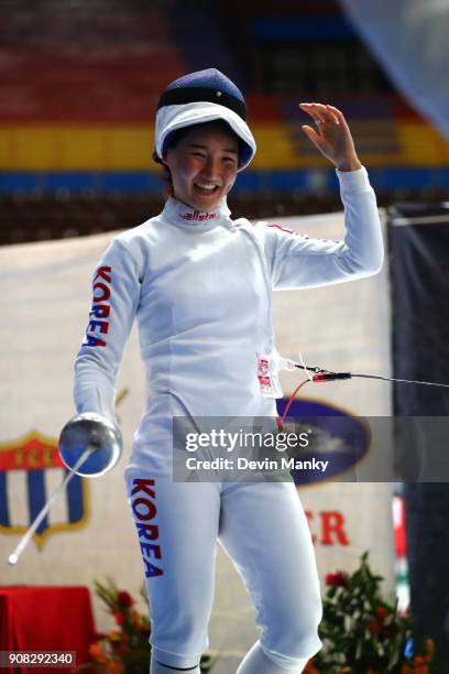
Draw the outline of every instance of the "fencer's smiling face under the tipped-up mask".
<instances>
[{"instance_id":1,"label":"fencer's smiling face under the tipped-up mask","mask_svg":"<svg viewBox=\"0 0 449 674\"><path fill-rule=\"evenodd\" d=\"M196 208L213 210L234 184L239 142L222 122L198 124L168 146L173 196Z\"/></svg>"}]
</instances>

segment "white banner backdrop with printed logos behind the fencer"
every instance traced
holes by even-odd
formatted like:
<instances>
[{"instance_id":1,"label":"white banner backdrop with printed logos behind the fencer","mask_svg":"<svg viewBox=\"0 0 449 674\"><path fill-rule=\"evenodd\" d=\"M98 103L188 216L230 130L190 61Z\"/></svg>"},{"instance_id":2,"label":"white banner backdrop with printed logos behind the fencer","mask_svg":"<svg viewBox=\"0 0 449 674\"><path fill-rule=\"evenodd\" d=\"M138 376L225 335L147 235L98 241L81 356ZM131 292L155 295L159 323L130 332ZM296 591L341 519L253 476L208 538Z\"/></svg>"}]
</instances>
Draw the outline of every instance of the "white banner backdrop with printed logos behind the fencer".
<instances>
[{"instance_id":1,"label":"white banner backdrop with printed logos behind the fencer","mask_svg":"<svg viewBox=\"0 0 449 674\"><path fill-rule=\"evenodd\" d=\"M276 219L309 236L339 238L342 215ZM30 524L29 503L47 498L62 479L55 467L56 438L74 414L73 361L90 308L91 274L114 232L0 249L0 583L1 585L88 585L112 576L134 595L143 581L140 551L128 511L123 469L132 433L145 402L143 365L135 326L118 379L119 417L125 439L121 463L110 474L74 485L48 515L18 565L7 564ZM390 371L390 308L386 269L374 278L326 289L275 293L277 348L330 370ZM285 392L303 374L283 373ZM348 414L388 415L384 382L351 380L308 384L303 398ZM46 448L45 448L46 447ZM37 480L37 481L36 481ZM315 537L321 578L352 569L371 551L376 572L393 588L391 486L328 483L298 489ZM72 499L72 500L70 500ZM72 518L72 523L70 523ZM287 553L286 553L287 554ZM98 629L110 621L95 600ZM258 633L247 591L219 550L210 649L223 652L215 672L231 663ZM228 664L223 664L228 663ZM223 667L220 670L220 666ZM228 668L227 668L228 667Z\"/></svg>"}]
</instances>

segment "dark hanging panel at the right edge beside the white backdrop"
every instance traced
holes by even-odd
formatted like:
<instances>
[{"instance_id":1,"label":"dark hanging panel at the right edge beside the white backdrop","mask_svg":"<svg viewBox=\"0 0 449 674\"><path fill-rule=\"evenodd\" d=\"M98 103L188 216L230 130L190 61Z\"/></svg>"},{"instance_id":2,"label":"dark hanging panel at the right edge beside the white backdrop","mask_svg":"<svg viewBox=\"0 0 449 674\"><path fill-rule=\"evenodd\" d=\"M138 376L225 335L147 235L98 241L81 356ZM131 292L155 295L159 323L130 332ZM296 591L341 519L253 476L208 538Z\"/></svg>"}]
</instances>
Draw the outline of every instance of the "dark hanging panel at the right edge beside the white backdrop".
<instances>
[{"instance_id":1,"label":"dark hanging panel at the right edge beside the white backdrop","mask_svg":"<svg viewBox=\"0 0 449 674\"><path fill-rule=\"evenodd\" d=\"M449 205L398 204L388 211L394 377L449 382ZM449 389L398 383L397 416L448 416ZM449 438L446 447L449 457ZM426 461L419 433L409 463ZM445 456L441 459L446 459ZM432 637L449 670L449 485L405 482L415 639Z\"/></svg>"}]
</instances>

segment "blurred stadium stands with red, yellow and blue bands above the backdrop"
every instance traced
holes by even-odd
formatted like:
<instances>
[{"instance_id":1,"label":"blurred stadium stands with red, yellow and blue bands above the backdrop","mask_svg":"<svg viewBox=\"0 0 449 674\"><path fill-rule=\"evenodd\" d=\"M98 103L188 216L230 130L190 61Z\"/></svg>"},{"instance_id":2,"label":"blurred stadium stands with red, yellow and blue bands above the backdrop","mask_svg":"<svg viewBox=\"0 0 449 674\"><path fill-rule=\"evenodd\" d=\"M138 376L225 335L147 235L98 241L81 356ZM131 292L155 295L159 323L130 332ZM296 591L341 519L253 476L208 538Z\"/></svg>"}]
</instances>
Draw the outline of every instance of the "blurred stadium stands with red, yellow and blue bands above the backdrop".
<instances>
[{"instance_id":1,"label":"blurred stadium stands with red, yellow and blue bands above the backdrop","mask_svg":"<svg viewBox=\"0 0 449 674\"><path fill-rule=\"evenodd\" d=\"M299 101L341 108L381 206L448 196L449 143L376 65L336 0L1 0L0 243L122 229L163 202L153 117L174 78L245 91L259 153L241 216L329 213L332 167Z\"/></svg>"}]
</instances>

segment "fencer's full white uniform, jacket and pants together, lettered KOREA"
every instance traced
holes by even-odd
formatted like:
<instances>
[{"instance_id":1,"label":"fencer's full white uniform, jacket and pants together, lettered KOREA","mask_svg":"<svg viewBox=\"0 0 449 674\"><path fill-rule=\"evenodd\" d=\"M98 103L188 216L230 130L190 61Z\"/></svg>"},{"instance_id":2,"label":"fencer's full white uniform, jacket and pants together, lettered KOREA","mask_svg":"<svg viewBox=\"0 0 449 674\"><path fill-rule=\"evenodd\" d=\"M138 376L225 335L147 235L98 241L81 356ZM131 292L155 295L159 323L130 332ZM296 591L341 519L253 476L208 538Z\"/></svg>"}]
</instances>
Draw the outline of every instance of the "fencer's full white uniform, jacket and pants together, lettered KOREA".
<instances>
[{"instance_id":1,"label":"fencer's full white uniform, jacket and pants together, lettered KOREA","mask_svg":"<svg viewBox=\"0 0 449 674\"><path fill-rule=\"evenodd\" d=\"M173 667L195 667L209 645L217 540L251 594L273 671L299 672L320 648L318 575L293 481L174 482L172 417L276 416L258 379L258 355L276 359L272 290L380 270L382 235L366 172L337 174L344 241L231 220L225 202L204 214L169 198L161 215L116 237L95 272L75 401L78 412L114 418L114 380L136 316L149 401L125 480L153 657Z\"/></svg>"}]
</instances>

